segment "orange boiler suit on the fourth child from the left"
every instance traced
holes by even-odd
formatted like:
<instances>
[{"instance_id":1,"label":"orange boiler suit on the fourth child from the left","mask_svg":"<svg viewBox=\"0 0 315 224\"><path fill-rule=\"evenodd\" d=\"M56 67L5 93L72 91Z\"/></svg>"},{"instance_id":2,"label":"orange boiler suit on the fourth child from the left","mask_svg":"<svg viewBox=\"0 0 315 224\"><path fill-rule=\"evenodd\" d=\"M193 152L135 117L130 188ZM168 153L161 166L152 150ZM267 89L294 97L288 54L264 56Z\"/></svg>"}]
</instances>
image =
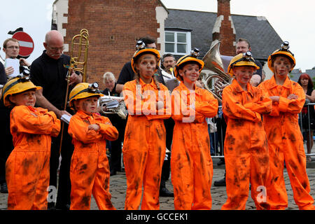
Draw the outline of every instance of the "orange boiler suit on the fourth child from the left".
<instances>
[{"instance_id":1,"label":"orange boiler suit on the fourth child from the left","mask_svg":"<svg viewBox=\"0 0 315 224\"><path fill-rule=\"evenodd\" d=\"M213 166L206 118L218 113L218 100L195 86L190 92L180 83L172 92L171 176L176 210L211 209Z\"/></svg>"}]
</instances>

